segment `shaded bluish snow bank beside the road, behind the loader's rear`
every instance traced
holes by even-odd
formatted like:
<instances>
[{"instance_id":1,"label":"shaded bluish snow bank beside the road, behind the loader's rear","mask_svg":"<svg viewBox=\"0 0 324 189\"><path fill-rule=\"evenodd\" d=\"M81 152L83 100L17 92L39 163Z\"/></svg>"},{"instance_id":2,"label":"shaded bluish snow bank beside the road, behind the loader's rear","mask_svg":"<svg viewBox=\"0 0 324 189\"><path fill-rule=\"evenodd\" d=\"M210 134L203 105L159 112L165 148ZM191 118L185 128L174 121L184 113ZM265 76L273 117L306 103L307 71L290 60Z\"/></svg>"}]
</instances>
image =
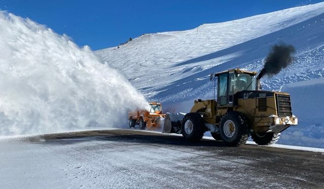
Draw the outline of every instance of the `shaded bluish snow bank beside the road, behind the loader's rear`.
<instances>
[{"instance_id":1,"label":"shaded bluish snow bank beside the road, behind the loader's rear","mask_svg":"<svg viewBox=\"0 0 324 189\"><path fill-rule=\"evenodd\" d=\"M280 144L324 148L324 78L291 83L281 88L291 95L298 125L282 132Z\"/></svg>"}]
</instances>

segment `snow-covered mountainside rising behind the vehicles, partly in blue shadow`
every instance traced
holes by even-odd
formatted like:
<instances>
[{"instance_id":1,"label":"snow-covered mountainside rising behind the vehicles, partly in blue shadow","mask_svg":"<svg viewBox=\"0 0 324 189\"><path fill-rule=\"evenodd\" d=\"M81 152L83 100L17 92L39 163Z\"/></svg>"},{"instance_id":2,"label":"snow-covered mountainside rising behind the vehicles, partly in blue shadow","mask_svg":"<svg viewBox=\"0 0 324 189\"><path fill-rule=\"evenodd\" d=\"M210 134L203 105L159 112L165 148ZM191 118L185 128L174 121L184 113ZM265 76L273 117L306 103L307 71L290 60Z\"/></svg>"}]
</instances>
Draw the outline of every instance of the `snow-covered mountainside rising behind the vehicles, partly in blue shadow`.
<instances>
[{"instance_id":1,"label":"snow-covered mountainside rising behind the vehicles, partly in blue shadow","mask_svg":"<svg viewBox=\"0 0 324 189\"><path fill-rule=\"evenodd\" d=\"M271 46L277 43L292 44L296 48L293 64L274 77L262 78L261 82L266 90L290 92L293 113L300 117L298 127L283 132L279 143L324 147L322 115L305 113L303 109L309 105L306 111L311 112L314 103L324 107L321 95L324 88L282 87L324 75L324 2L204 24L187 31L145 34L119 47L96 51L96 54L123 72L148 100L163 102L168 111L188 112L193 99L213 98L211 73L232 68L258 72ZM305 95L300 96L300 93ZM315 99L307 93L318 96ZM322 112L322 109L316 108L316 111Z\"/></svg>"}]
</instances>

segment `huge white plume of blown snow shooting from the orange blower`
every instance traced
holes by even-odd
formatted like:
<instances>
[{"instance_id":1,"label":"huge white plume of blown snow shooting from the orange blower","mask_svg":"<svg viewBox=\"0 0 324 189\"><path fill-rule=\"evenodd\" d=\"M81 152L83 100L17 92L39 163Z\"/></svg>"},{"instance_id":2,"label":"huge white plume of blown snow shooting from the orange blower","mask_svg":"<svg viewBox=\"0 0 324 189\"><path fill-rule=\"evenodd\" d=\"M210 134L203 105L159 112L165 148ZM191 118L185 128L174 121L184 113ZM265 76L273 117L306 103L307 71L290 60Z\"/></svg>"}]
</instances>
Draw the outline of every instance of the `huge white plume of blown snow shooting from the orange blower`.
<instances>
[{"instance_id":1,"label":"huge white plume of blown snow shooting from the orange blower","mask_svg":"<svg viewBox=\"0 0 324 189\"><path fill-rule=\"evenodd\" d=\"M120 127L148 108L118 71L88 46L0 11L0 135Z\"/></svg>"}]
</instances>

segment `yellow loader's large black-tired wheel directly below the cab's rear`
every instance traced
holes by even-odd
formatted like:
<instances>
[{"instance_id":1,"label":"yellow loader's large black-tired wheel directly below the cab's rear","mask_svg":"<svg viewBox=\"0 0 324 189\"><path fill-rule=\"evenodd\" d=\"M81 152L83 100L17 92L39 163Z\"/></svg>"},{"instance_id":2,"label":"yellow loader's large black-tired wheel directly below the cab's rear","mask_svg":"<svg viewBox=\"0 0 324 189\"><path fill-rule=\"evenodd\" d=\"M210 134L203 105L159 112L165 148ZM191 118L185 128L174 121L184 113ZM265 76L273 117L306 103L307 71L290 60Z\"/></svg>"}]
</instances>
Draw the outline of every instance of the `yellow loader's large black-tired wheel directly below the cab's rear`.
<instances>
[{"instance_id":1,"label":"yellow loader's large black-tired wheel directly below the cab's rear","mask_svg":"<svg viewBox=\"0 0 324 189\"><path fill-rule=\"evenodd\" d=\"M244 145L248 139L248 120L237 111L227 112L220 123L220 136L227 146Z\"/></svg>"}]
</instances>

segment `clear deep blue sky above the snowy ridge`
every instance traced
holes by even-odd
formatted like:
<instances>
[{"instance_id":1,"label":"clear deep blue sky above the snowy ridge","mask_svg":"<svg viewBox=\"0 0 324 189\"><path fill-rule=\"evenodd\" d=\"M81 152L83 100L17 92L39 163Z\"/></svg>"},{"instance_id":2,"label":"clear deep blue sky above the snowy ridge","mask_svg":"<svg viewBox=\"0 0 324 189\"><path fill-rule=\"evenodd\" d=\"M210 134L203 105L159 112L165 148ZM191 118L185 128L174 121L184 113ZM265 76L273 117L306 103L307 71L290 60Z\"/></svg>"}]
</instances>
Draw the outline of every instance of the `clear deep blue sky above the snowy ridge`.
<instances>
[{"instance_id":1,"label":"clear deep blue sky above the snowy ridge","mask_svg":"<svg viewBox=\"0 0 324 189\"><path fill-rule=\"evenodd\" d=\"M117 46L144 33L187 30L315 4L323 0L0 0L0 9L45 24L93 50Z\"/></svg>"}]
</instances>

